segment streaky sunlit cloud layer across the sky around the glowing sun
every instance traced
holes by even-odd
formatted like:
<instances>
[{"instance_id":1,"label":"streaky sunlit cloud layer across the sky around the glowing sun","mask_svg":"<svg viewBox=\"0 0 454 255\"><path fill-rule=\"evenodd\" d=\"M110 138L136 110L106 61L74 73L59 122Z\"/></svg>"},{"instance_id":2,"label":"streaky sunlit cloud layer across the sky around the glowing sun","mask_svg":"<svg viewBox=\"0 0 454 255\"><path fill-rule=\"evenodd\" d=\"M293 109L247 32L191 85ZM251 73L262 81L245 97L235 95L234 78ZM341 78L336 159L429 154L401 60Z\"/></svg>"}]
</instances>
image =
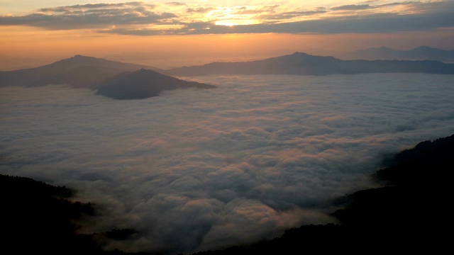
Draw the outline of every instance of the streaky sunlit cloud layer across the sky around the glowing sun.
<instances>
[{"instance_id":1,"label":"streaky sunlit cloud layer across the sky around the glowing sun","mask_svg":"<svg viewBox=\"0 0 454 255\"><path fill-rule=\"evenodd\" d=\"M41 8L26 16L1 16L0 26L52 30L92 29L124 35L208 33L394 33L454 26L453 1L349 4L319 8L286 6L187 6L184 3L78 4ZM222 24L238 26L216 26ZM232 22L233 21L233 22ZM200 26L203 24L203 26ZM205 24L208 24L206 26ZM244 25L240 25L244 24ZM170 25L170 26L169 26Z\"/></svg>"}]
</instances>

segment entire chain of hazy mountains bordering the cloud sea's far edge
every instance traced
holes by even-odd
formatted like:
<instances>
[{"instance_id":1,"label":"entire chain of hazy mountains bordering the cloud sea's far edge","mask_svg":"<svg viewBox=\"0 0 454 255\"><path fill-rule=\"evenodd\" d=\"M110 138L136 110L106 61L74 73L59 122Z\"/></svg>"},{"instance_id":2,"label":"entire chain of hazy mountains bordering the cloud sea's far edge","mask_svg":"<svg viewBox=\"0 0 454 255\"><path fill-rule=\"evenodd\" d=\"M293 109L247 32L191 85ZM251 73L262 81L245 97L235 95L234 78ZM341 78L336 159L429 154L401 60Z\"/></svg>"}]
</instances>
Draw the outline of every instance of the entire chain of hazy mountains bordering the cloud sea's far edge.
<instances>
[{"instance_id":1,"label":"entire chain of hazy mountains bordering the cloud sea's far edge","mask_svg":"<svg viewBox=\"0 0 454 255\"><path fill-rule=\"evenodd\" d=\"M115 62L75 55L42 67L0 72L0 87L69 84L75 88L96 90L96 94L116 99L157 96L172 89L212 89L216 86L184 81L175 76L191 77L229 74L364 74L427 73L454 74L454 64L434 60L339 60L294 52L250 62L213 62L200 66L157 69L140 64Z\"/></svg>"}]
</instances>

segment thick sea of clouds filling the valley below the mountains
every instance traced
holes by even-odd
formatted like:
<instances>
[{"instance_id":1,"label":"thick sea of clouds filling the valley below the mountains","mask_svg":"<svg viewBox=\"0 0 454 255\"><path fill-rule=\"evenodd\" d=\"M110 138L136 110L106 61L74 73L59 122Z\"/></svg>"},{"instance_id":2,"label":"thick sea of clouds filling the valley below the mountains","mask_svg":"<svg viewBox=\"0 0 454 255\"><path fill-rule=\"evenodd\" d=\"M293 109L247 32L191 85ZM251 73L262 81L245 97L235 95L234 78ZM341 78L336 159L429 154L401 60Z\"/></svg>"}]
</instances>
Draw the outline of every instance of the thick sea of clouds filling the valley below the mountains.
<instances>
[{"instance_id":1,"label":"thick sea of clouds filling the valley below the mountains","mask_svg":"<svg viewBox=\"0 0 454 255\"><path fill-rule=\"evenodd\" d=\"M1 88L0 174L75 188L102 212L84 232L138 230L106 249L189 253L336 222L333 199L375 186L384 154L454 133L450 75L191 80L218 88Z\"/></svg>"}]
</instances>

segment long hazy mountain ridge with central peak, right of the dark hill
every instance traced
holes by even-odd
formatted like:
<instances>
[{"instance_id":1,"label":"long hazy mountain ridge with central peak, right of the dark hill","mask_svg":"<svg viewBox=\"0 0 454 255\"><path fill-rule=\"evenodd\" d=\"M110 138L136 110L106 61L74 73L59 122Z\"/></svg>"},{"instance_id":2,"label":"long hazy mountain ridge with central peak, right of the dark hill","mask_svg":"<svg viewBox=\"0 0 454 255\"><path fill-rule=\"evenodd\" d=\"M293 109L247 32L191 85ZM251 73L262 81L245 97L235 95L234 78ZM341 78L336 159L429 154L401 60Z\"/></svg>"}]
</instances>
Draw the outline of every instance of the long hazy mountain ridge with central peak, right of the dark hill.
<instances>
[{"instance_id":1,"label":"long hazy mountain ridge with central peak, right of the dark hill","mask_svg":"<svg viewBox=\"0 0 454 255\"><path fill-rule=\"evenodd\" d=\"M438 61L398 60L339 60L294 52L292 55L272 57L250 62L213 62L201 66L179 67L165 70L173 76L204 76L210 74L362 74L362 73L428 73L454 74L454 64Z\"/></svg>"}]
</instances>

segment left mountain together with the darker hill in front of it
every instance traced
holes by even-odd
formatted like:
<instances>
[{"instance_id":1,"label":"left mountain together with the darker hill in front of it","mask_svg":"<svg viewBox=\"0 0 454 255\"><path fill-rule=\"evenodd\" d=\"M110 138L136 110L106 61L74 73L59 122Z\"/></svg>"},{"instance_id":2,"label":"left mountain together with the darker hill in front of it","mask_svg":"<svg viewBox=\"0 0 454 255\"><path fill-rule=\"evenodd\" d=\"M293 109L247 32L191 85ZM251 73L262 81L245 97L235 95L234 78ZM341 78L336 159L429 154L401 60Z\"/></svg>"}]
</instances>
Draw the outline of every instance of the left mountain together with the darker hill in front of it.
<instances>
[{"instance_id":1,"label":"left mountain together with the darker hill in front of it","mask_svg":"<svg viewBox=\"0 0 454 255\"><path fill-rule=\"evenodd\" d=\"M172 89L216 87L169 77L150 68L153 67L75 55L43 67L0 72L0 87L69 84L116 99L148 98Z\"/></svg>"}]
</instances>

